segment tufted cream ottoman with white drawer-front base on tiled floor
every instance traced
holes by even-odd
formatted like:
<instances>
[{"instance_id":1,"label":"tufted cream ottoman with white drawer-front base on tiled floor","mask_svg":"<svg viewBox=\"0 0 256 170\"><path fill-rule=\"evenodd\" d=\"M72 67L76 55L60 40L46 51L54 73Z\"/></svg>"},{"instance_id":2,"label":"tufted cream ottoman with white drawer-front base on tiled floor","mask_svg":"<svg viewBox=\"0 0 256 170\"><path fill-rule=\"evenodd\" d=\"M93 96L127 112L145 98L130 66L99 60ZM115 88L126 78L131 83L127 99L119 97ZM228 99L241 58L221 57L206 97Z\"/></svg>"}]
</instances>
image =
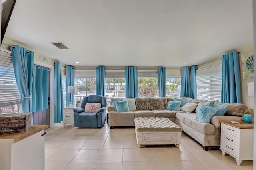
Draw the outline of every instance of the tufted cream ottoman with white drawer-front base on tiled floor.
<instances>
[{"instance_id":1,"label":"tufted cream ottoman with white drawer-front base on tiled floor","mask_svg":"<svg viewBox=\"0 0 256 170\"><path fill-rule=\"evenodd\" d=\"M134 119L137 144L175 144L181 142L181 127L164 117L138 117Z\"/></svg>"}]
</instances>

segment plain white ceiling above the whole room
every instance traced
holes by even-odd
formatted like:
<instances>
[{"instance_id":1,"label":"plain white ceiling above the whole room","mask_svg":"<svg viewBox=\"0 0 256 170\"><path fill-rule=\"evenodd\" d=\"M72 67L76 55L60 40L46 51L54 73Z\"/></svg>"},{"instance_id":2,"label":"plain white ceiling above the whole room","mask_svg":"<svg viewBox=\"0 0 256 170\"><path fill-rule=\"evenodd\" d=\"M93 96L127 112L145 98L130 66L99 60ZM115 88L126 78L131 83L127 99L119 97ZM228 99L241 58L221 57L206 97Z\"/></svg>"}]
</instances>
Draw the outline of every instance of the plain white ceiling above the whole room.
<instances>
[{"instance_id":1,"label":"plain white ceiling above the whole room","mask_svg":"<svg viewBox=\"0 0 256 170\"><path fill-rule=\"evenodd\" d=\"M253 42L252 1L17 0L5 36L75 66L198 65Z\"/></svg>"}]
</instances>

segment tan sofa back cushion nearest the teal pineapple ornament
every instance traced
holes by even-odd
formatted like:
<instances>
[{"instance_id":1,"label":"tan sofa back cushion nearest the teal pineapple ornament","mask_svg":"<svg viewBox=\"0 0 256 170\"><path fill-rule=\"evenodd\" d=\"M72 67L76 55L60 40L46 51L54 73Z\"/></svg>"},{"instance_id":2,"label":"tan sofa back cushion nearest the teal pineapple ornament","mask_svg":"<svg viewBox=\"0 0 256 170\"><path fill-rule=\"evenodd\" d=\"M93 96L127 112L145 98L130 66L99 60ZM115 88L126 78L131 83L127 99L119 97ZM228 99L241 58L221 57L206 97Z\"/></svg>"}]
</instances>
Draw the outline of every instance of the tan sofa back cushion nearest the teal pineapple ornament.
<instances>
[{"instance_id":1,"label":"tan sofa back cushion nearest the teal pineapple ornament","mask_svg":"<svg viewBox=\"0 0 256 170\"><path fill-rule=\"evenodd\" d=\"M247 106L242 103L222 103L222 104L225 106L228 106L226 115L243 116L244 110L247 109Z\"/></svg>"}]
</instances>

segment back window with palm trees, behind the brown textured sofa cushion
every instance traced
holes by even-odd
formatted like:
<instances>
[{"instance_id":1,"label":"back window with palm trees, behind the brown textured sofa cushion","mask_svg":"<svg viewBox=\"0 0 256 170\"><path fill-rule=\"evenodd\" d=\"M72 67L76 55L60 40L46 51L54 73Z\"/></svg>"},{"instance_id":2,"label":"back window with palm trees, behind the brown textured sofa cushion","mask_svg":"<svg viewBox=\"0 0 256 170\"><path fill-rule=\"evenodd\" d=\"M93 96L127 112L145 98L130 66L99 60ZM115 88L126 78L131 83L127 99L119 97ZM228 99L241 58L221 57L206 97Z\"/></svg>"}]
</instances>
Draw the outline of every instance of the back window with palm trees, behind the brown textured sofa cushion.
<instances>
[{"instance_id":1,"label":"back window with palm trees, behind the brown textured sofa cushion","mask_svg":"<svg viewBox=\"0 0 256 170\"><path fill-rule=\"evenodd\" d=\"M158 97L158 71L138 70L139 97Z\"/></svg>"}]
</instances>

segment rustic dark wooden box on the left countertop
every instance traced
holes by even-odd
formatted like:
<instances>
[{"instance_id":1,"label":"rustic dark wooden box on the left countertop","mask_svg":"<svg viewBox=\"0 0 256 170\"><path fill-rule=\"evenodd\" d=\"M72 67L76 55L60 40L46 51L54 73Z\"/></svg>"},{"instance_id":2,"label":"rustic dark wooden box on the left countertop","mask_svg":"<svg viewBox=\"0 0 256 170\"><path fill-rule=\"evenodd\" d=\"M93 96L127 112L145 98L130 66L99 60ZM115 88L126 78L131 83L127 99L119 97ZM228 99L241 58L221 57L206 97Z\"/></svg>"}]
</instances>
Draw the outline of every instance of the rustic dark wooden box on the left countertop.
<instances>
[{"instance_id":1,"label":"rustic dark wooden box on the left countertop","mask_svg":"<svg viewBox=\"0 0 256 170\"><path fill-rule=\"evenodd\" d=\"M25 132L31 126L32 113L11 113L0 115L0 134Z\"/></svg>"}]
</instances>

